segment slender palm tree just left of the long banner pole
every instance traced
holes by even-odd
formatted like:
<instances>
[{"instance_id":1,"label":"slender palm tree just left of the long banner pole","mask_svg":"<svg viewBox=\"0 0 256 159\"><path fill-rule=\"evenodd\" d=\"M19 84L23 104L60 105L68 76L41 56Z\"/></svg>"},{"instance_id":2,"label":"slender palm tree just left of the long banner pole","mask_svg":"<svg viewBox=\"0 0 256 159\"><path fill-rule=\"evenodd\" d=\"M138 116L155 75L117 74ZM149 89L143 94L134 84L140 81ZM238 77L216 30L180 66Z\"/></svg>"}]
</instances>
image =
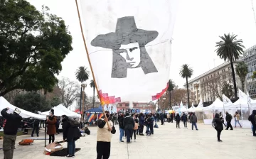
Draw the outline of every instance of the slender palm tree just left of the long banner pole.
<instances>
[{"instance_id":1,"label":"slender palm tree just left of the long banner pole","mask_svg":"<svg viewBox=\"0 0 256 159\"><path fill-rule=\"evenodd\" d=\"M78 70L75 72L75 77L78 79L79 82L85 82L89 79L90 71L87 70L87 67L80 66L78 67ZM81 86L81 92L80 92L80 112L82 107L82 86Z\"/></svg>"}]
</instances>

